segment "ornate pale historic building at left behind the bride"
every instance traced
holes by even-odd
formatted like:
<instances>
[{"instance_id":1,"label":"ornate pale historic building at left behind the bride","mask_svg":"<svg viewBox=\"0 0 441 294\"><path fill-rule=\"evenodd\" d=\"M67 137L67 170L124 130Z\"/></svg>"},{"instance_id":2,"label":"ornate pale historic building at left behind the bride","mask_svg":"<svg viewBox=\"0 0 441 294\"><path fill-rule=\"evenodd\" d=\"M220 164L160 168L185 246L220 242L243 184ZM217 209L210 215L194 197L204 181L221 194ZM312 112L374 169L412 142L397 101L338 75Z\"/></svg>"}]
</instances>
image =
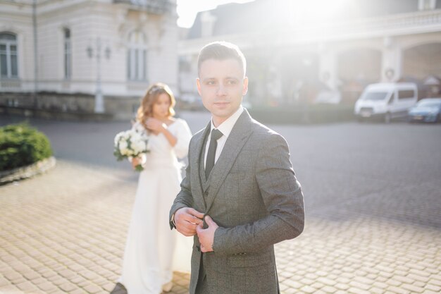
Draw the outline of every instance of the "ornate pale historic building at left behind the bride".
<instances>
[{"instance_id":1,"label":"ornate pale historic building at left behind the bride","mask_svg":"<svg viewBox=\"0 0 441 294\"><path fill-rule=\"evenodd\" d=\"M104 104L94 108L102 112L117 111L130 97L137 103L151 82L177 92L175 2L0 0L0 97L37 93L35 105L45 99L53 108L87 111L101 95ZM48 102L41 93L58 96ZM89 95L84 107L65 99L75 94ZM7 103L27 104L14 97ZM57 99L66 101L54 106Z\"/></svg>"}]
</instances>

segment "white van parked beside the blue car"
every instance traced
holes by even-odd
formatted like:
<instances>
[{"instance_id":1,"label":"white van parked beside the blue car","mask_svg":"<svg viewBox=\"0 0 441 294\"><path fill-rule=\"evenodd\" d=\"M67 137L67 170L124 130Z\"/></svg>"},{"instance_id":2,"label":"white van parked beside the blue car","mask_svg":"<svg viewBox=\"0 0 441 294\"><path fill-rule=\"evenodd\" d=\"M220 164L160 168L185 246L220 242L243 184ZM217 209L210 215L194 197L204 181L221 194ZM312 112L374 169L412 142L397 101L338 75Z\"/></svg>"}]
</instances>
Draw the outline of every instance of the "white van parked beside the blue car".
<instances>
[{"instance_id":1,"label":"white van parked beside the blue car","mask_svg":"<svg viewBox=\"0 0 441 294\"><path fill-rule=\"evenodd\" d=\"M392 118L406 117L417 100L418 88L413 82L371 84L356 101L354 114L359 120L380 117L390 123Z\"/></svg>"}]
</instances>

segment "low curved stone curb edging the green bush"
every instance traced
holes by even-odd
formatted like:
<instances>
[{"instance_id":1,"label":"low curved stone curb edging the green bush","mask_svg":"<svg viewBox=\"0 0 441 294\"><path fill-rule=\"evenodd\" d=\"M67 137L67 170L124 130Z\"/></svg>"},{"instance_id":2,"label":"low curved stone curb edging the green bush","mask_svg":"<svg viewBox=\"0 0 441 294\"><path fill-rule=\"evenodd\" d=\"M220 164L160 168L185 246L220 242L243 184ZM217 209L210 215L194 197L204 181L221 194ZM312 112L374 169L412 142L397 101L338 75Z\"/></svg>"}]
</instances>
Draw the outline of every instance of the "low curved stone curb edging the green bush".
<instances>
[{"instance_id":1,"label":"low curved stone curb edging the green bush","mask_svg":"<svg viewBox=\"0 0 441 294\"><path fill-rule=\"evenodd\" d=\"M53 169L55 165L55 157L49 157L37 161L35 164L30 164L29 166L22 166L17 169L11 169L10 171L0 171L0 185L37 176L40 173L49 171L49 169Z\"/></svg>"}]
</instances>

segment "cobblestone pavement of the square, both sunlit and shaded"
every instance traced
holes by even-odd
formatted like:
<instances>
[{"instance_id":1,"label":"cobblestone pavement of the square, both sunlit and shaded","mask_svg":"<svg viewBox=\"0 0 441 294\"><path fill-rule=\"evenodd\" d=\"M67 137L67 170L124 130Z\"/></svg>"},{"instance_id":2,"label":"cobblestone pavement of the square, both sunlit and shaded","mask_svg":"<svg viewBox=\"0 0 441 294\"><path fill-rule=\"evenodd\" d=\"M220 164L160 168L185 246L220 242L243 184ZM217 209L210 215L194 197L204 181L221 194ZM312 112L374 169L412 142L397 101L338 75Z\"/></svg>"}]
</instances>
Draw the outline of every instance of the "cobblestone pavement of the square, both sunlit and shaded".
<instances>
[{"instance_id":1,"label":"cobblestone pavement of the square, both sunlit and shaded","mask_svg":"<svg viewBox=\"0 0 441 294\"><path fill-rule=\"evenodd\" d=\"M207 119L182 116L193 131ZM136 188L108 154L126 125L31 123L58 162L0 187L0 293L108 293ZM275 247L282 293L441 293L441 125L273 128L306 203L304 233ZM172 294L188 293L188 274L173 281Z\"/></svg>"}]
</instances>

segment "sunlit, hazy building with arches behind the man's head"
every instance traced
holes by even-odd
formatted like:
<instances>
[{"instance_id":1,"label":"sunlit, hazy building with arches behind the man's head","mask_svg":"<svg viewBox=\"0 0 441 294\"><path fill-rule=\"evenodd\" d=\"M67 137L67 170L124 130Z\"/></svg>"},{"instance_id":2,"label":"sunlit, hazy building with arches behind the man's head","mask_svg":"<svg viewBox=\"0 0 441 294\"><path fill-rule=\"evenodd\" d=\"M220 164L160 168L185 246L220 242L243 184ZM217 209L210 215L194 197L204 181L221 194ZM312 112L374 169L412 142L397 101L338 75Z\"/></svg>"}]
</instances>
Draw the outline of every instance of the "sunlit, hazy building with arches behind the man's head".
<instances>
[{"instance_id":1,"label":"sunlit, hazy building with arches behind the man's head","mask_svg":"<svg viewBox=\"0 0 441 294\"><path fill-rule=\"evenodd\" d=\"M256 0L199 13L179 44L182 94L196 95L199 49L225 40L247 56L252 104L353 103L369 83L399 80L441 95L440 0L313 3Z\"/></svg>"}]
</instances>

